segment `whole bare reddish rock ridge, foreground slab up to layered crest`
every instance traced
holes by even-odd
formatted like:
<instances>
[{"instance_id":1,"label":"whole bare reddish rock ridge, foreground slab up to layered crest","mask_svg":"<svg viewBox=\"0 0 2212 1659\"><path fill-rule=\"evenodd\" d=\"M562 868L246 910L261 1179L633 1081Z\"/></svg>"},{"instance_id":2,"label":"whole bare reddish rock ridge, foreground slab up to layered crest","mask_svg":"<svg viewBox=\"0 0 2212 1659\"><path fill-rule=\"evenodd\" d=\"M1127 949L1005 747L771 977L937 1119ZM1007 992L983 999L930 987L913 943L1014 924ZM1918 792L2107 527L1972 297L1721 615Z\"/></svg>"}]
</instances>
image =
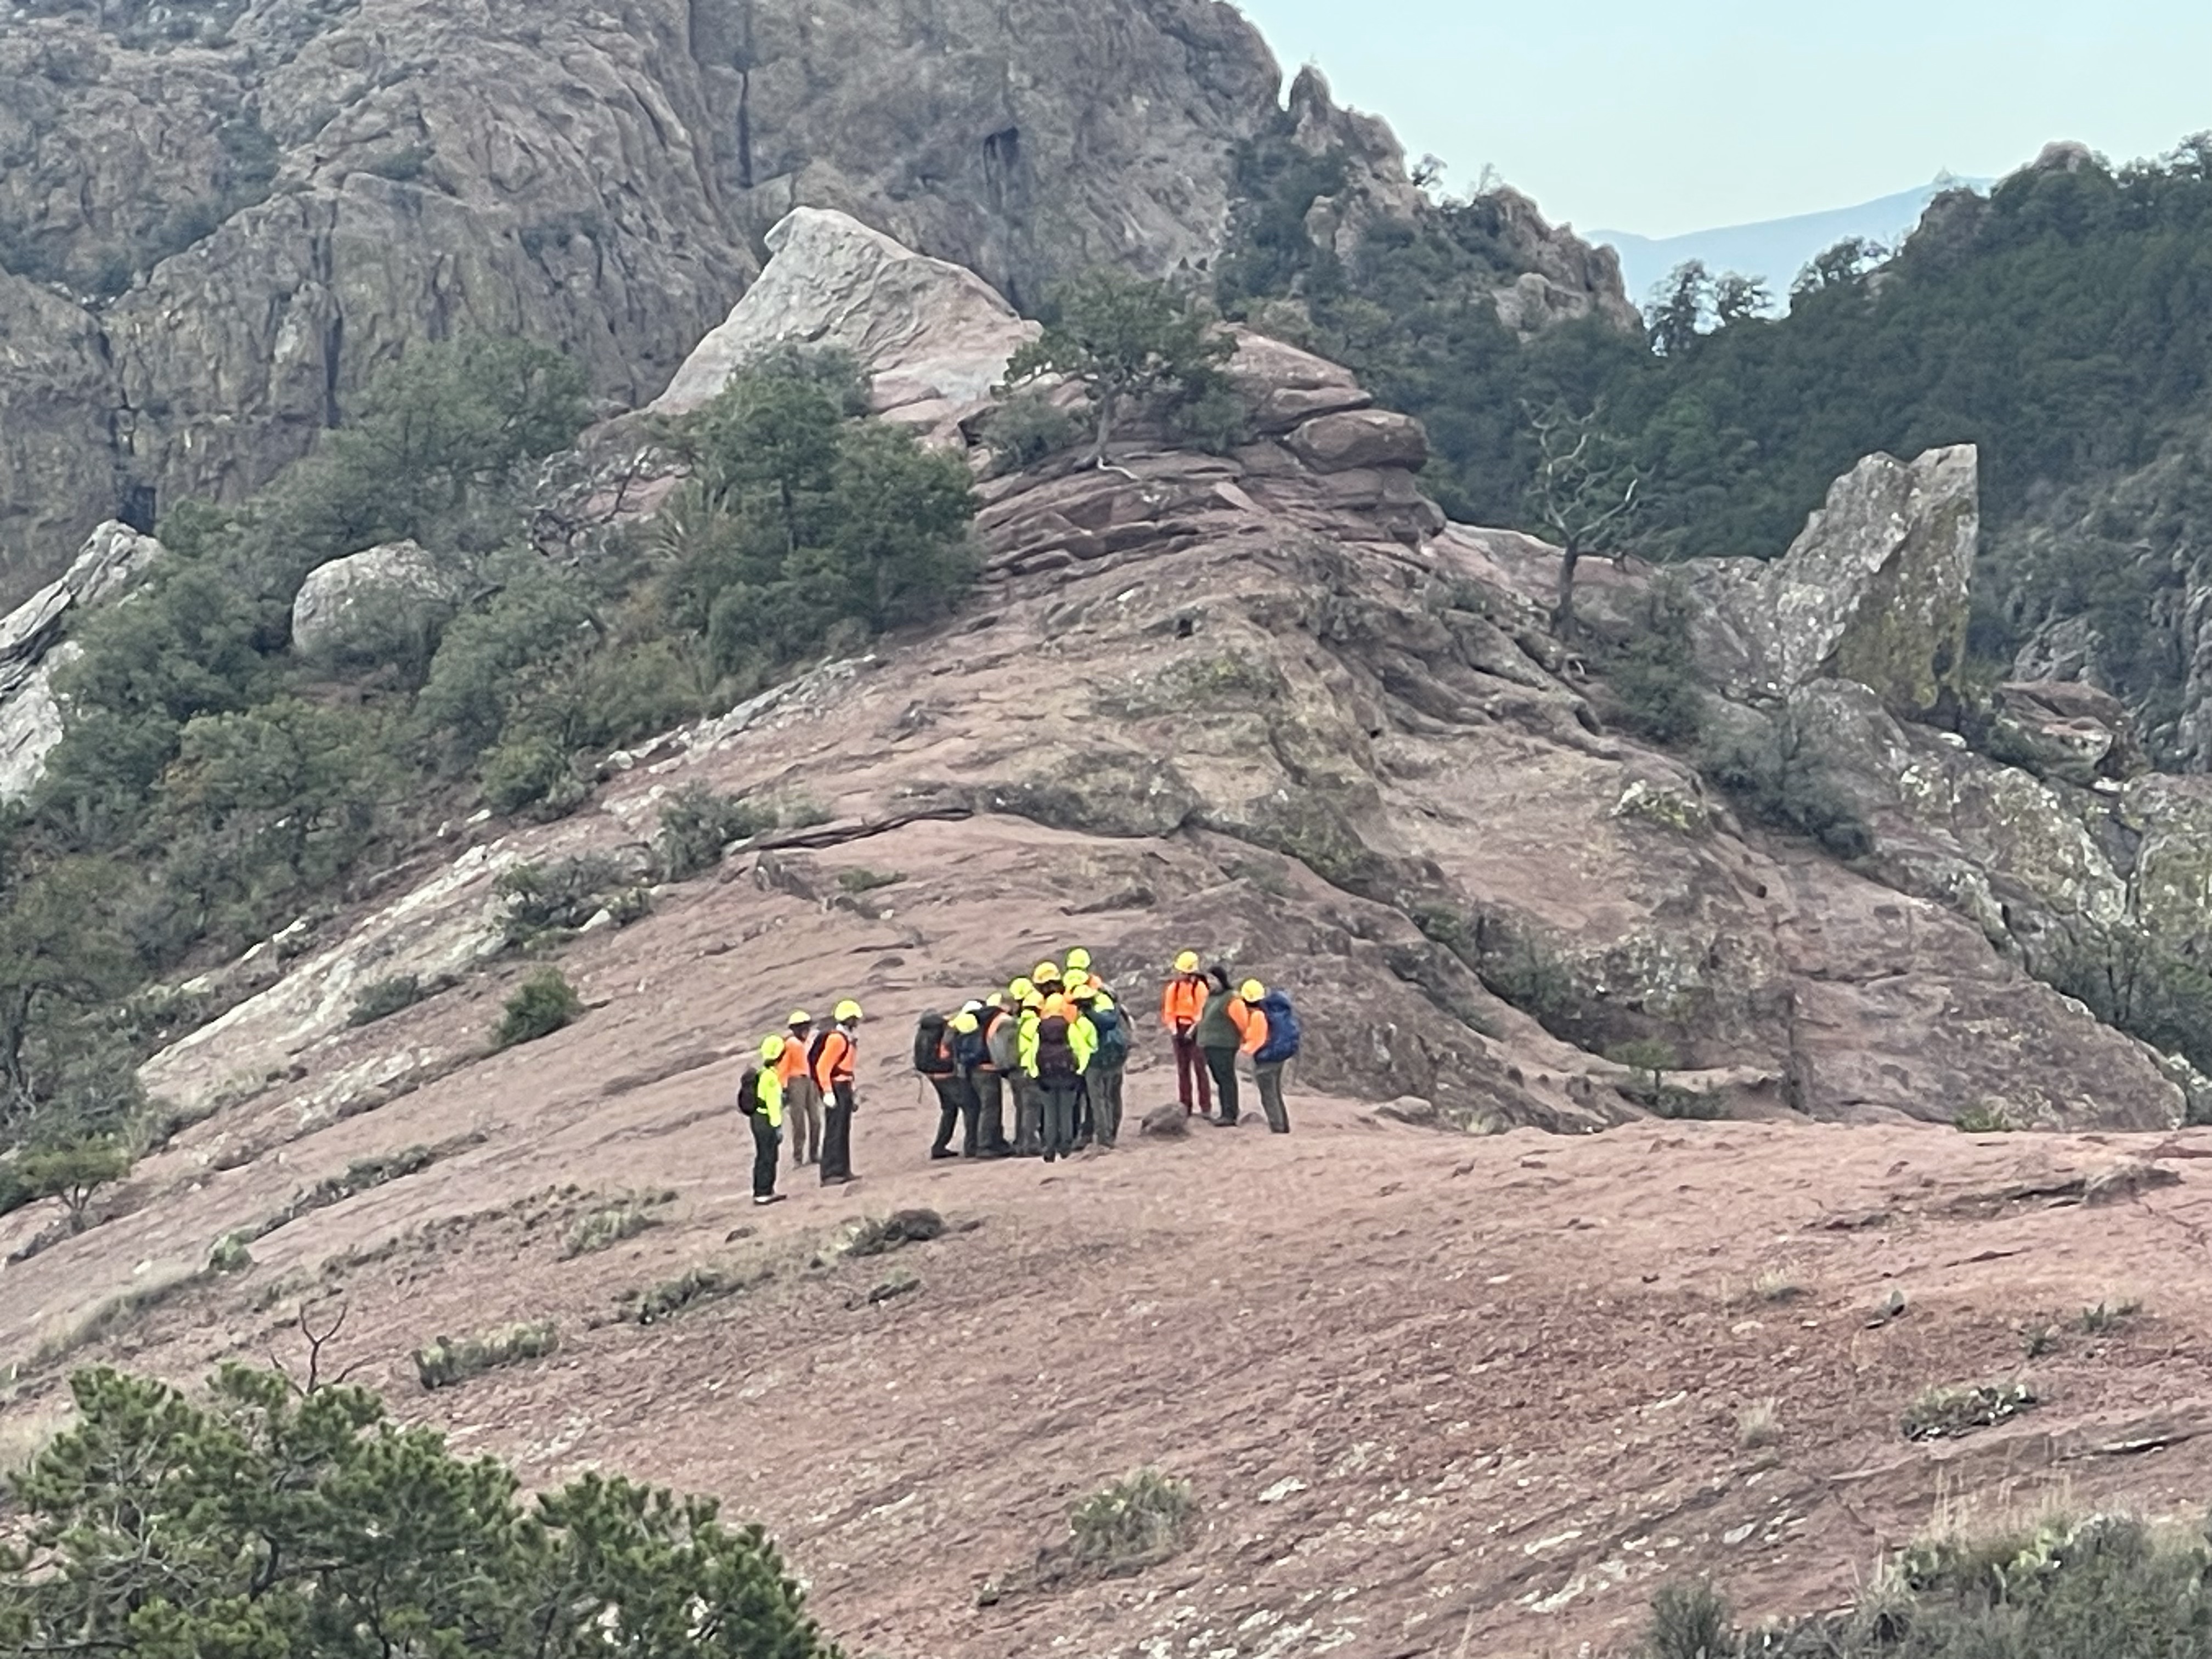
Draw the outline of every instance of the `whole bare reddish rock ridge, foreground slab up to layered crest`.
<instances>
[{"instance_id":1,"label":"whole bare reddish rock ridge, foreground slab up to layered crest","mask_svg":"<svg viewBox=\"0 0 2212 1659\"><path fill-rule=\"evenodd\" d=\"M783 272L787 314L843 314L856 270ZM2205 1146L2166 1135L2190 1082L2028 978L2015 918L2201 929L2205 794L2135 772L2112 710L2070 688L2008 688L2026 765L1896 712L1947 675L1971 453L1838 482L1756 573L1796 595L1790 637L1730 608L1743 571L1681 573L1723 595L1692 630L1717 672L1781 664L1714 717L1829 723L1871 838L1838 860L1610 726L1548 630L1557 553L1442 522L1418 422L1263 336L1230 372L1252 409L1232 453L1133 431L1106 467L984 478L984 584L947 626L608 757L560 823L449 825L376 900L177 987L179 1009L228 1004L144 1073L188 1126L82 1237L0 1219L0 1413L49 1409L71 1356L259 1356L338 1294L349 1358L411 1416L526 1478L588 1462L743 1495L841 1635L993 1659L1071 1617L1086 1652L1599 1646L1683 1571L1741 1579L1750 1610L1832 1604L1938 1493L2126 1495L2146 1447L2170 1451L2148 1480L2197 1482L2203 1442L2161 1416L2190 1387L2170 1338L2201 1323L2174 1261ZM1650 599L1652 573L1586 571L1599 626ZM566 942L588 1013L487 1053L533 967L498 874L637 869L686 783L779 827ZM1077 940L1137 1009L1186 945L1290 989L1298 1135L927 1164L914 1015ZM352 1024L396 978L422 998ZM874 1033L867 1186L801 1186L763 1219L730 1071L790 1006L847 993ZM1604 1057L1632 1037L1681 1044L1670 1108L1739 1121L1650 1121ZM1157 1051L1146 1033L1139 1106L1170 1086ZM1969 1106L2095 1133L1944 1126ZM668 1221L562 1256L619 1190L675 1194ZM920 1201L982 1228L872 1301L847 1210ZM241 1279L206 1270L226 1237ZM701 1263L745 1290L650 1329L608 1312ZM1776 1272L1787 1312L1745 1290ZM2108 1274L2174 1312L2039 1360L2055 1405L2017 1433L1900 1449L1913 1389L2017 1367L2017 1325ZM414 1345L520 1316L562 1323L555 1360L407 1391ZM834 1433L781 1411L823 1389L883 1409ZM1787 1438L1752 1455L1734 1411L1767 1396ZM991 1402L989 1458L947 1400ZM1133 1584L1022 1577L1073 1498L1148 1462L1201 1482L1188 1555Z\"/></svg>"}]
</instances>

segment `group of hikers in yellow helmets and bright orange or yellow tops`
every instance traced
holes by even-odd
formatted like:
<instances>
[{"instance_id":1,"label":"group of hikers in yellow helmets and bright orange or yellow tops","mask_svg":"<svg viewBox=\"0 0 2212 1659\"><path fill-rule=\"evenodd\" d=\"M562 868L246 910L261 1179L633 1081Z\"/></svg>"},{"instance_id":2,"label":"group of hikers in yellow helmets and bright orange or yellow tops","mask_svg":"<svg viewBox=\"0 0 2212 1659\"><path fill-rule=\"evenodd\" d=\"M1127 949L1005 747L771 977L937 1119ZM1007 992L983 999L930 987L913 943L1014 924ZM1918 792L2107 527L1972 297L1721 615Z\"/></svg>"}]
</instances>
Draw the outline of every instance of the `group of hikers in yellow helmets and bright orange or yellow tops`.
<instances>
[{"instance_id":1,"label":"group of hikers in yellow helmets and bright orange or yellow tops","mask_svg":"<svg viewBox=\"0 0 2212 1659\"><path fill-rule=\"evenodd\" d=\"M823 1186L852 1172L854 1077L860 1057L860 1004L838 1002L816 1031L805 1009L785 1031L763 1037L737 1086L752 1124L752 1201L776 1203L776 1170L790 1126L792 1168L818 1166ZM1175 1044L1175 1091L1188 1115L1208 1124L1239 1119L1237 1057L1248 1055L1267 1128L1290 1135L1283 1066L1298 1055L1298 1015L1283 991L1259 980L1234 984L1225 967L1199 969L1183 951L1159 995L1159 1022ZM1093 969L1091 951L1037 962L1004 991L925 1013L914 1029L914 1071L938 1095L931 1159L1042 1157L1046 1164L1110 1150L1121 1139L1121 1077L1130 1020L1115 989ZM1217 1106L1219 1097L1219 1106ZM1006 1106L1013 1106L1013 1139ZM953 1137L960 1137L958 1150Z\"/></svg>"}]
</instances>

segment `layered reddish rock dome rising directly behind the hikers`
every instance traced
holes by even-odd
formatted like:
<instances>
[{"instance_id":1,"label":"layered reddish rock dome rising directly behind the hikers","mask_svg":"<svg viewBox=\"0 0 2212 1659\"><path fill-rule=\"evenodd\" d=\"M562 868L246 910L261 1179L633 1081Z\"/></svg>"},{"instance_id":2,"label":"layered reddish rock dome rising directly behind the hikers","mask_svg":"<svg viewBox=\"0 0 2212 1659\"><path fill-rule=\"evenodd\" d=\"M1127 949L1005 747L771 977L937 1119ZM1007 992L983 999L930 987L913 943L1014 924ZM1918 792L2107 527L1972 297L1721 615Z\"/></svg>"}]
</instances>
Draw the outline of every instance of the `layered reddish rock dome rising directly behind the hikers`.
<instances>
[{"instance_id":1,"label":"layered reddish rock dome rising directly behind the hikers","mask_svg":"<svg viewBox=\"0 0 2212 1659\"><path fill-rule=\"evenodd\" d=\"M1230 374L1267 436L1234 456L1130 440L1110 469L1062 458L984 482L967 628L617 757L599 812L482 860L635 845L688 781L810 794L827 823L732 854L719 936L805 916L785 938L843 958L867 922L896 942L867 991L896 1024L1066 942L1079 896L1102 960L1144 973L1130 964L1206 938L1298 1000L1310 1086L1413 1097L1440 1121L1628 1117L1626 1071L1601 1055L1632 1037L1674 1044L1688 1086L1741 1113L2181 1117L2157 1057L2031 980L1969 891L2090 883L2093 849L2070 876L2039 854L2044 874L1969 830L1997 805L1955 807L1942 845L1900 807L1891 838L1911 830L1931 852L1871 874L1747 836L1683 761L1599 730L1542 602L1500 568L1517 538L1444 529L1420 500L1418 427L1254 336ZM1911 513L1940 513L1927 500ZM1887 546L1920 546L1922 529L1893 524ZM1834 564L1865 588L1865 564ZM1924 770L1918 728L1863 686L1814 675L1796 703L1807 726L1893 743L1865 763L1887 787ZM1966 759L1980 770L1960 774L1960 803L2048 787ZM841 896L827 863L860 843L905 876L883 900ZM345 1009L425 942L465 958L487 938L489 883L487 863L431 878L155 1060L148 1084L184 1106L254 1095L221 1119L232 1144L460 1064L458 1048L376 1046ZM761 1018L818 1000L805 951L763 962ZM292 1068L310 1079L285 1082Z\"/></svg>"}]
</instances>

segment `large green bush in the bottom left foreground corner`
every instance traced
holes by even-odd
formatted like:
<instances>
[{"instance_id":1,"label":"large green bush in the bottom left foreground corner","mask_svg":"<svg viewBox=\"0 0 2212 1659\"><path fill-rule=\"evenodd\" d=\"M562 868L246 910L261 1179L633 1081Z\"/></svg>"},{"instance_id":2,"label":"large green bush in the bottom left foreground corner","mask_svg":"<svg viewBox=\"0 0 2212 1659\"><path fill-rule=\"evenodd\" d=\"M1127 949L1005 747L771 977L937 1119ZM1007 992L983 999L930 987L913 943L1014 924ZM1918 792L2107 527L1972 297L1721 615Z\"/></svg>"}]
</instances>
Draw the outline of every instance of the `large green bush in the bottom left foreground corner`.
<instances>
[{"instance_id":1,"label":"large green bush in the bottom left foreground corner","mask_svg":"<svg viewBox=\"0 0 2212 1659\"><path fill-rule=\"evenodd\" d=\"M86 1369L71 1394L75 1427L13 1482L9 1652L836 1652L712 1500L597 1473L524 1498L365 1389L241 1365L192 1394Z\"/></svg>"}]
</instances>

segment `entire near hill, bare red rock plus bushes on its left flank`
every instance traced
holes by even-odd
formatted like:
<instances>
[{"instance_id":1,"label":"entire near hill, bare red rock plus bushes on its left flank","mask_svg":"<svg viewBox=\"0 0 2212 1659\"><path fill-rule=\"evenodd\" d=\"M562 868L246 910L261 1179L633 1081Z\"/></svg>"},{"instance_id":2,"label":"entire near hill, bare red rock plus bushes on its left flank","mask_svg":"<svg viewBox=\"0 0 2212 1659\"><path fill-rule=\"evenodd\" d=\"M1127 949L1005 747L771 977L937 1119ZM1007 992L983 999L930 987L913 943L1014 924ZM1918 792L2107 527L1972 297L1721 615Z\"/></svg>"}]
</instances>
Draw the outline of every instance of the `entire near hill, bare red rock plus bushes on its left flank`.
<instances>
[{"instance_id":1,"label":"entire near hill, bare red rock plus bushes on its left flank","mask_svg":"<svg viewBox=\"0 0 2212 1659\"><path fill-rule=\"evenodd\" d=\"M1774 564L1597 562L1571 650L1559 553L1444 522L1345 369L1097 279L1035 356L1137 327L1175 372L1093 456L1104 380L947 414L900 369L987 338L993 383L1018 319L807 226L759 310L889 343L858 367L947 449L768 352L540 469L575 372L460 343L69 617L0 872L0 1416L343 1298L409 1416L721 1491L834 1630L949 1655L1610 1644L1674 1571L1832 1604L2024 1460L2179 1502L2124 1455L2190 1444L2154 1338L2212 1086L2163 1035L2212 803L2066 688L1929 723L1971 449L1860 462ZM1183 947L1287 989L1296 1133L931 1166L914 1020L1077 942L1135 1009ZM2146 1000L2099 1022L2062 956ZM865 1186L761 1212L734 1071L845 995ZM1166 1099L1150 1035L1133 1086ZM843 1248L914 1201L956 1230ZM2046 1416L1900 1438L2020 1325ZM1197 1524L1071 1573L1066 1509L1139 1464Z\"/></svg>"}]
</instances>

